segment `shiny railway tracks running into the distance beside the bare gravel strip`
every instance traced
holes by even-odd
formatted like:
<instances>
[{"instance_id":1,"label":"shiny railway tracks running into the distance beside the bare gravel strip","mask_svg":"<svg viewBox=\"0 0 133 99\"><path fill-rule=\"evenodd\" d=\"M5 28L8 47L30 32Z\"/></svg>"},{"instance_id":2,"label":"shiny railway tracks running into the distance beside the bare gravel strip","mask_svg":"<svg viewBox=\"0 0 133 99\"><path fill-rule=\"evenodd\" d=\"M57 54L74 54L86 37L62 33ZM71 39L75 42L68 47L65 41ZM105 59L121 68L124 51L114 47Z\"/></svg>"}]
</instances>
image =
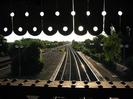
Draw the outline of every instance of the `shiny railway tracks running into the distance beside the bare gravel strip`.
<instances>
[{"instance_id":1,"label":"shiny railway tracks running into the distance beside the bare gravel strip","mask_svg":"<svg viewBox=\"0 0 133 99\"><path fill-rule=\"evenodd\" d=\"M64 61L54 80L99 81L99 78L84 59L67 46Z\"/></svg>"}]
</instances>

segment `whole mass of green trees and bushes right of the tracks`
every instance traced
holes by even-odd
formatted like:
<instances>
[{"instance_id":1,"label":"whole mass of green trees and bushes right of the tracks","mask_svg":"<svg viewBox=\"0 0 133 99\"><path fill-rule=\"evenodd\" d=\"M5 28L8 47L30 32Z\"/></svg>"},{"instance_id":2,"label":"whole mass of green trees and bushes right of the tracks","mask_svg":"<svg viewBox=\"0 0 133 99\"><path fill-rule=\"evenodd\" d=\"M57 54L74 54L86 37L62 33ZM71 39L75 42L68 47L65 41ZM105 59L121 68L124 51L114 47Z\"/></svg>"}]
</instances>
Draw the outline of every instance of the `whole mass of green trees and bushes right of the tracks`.
<instances>
[{"instance_id":1,"label":"whole mass of green trees and bushes right of the tracks","mask_svg":"<svg viewBox=\"0 0 133 99\"><path fill-rule=\"evenodd\" d=\"M121 39L115 31L112 31L108 37L99 35L93 40L85 40L83 53L103 63L110 70L115 70L115 62L121 61L120 45Z\"/></svg>"}]
</instances>

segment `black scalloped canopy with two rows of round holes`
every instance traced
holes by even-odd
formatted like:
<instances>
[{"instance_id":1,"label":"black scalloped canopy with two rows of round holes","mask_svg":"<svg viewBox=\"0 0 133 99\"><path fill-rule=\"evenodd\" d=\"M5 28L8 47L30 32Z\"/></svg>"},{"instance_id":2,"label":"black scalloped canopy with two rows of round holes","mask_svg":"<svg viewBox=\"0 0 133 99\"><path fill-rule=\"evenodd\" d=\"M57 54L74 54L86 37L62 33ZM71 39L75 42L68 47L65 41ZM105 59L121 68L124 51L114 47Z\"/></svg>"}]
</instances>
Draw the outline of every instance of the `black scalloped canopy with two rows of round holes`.
<instances>
[{"instance_id":1,"label":"black scalloped canopy with two rows of round holes","mask_svg":"<svg viewBox=\"0 0 133 99\"><path fill-rule=\"evenodd\" d=\"M37 36L42 30L47 35L53 35L58 30L62 35L69 35L74 30L78 35L84 35L87 31L98 35L103 31L103 4L104 0L1 0L0 33L7 36L14 31L17 35L24 35L28 30L31 35ZM111 25L117 31L120 29L118 11L123 12L121 30L124 32L126 26L132 28L132 6L131 0L105 0L107 15L104 30L107 34ZM76 12L74 17L72 10ZM60 12L59 16L55 15L56 11ZM86 15L86 11L91 12L90 16ZM11 12L15 14L14 17L10 16ZM28 17L25 12L29 13ZM44 12L44 16L40 16L40 12ZM64 26L68 27L67 31L63 30ZM80 26L83 26L83 30L79 30ZM98 27L98 31L93 30L94 26ZM52 27L51 31L49 27Z\"/></svg>"}]
</instances>

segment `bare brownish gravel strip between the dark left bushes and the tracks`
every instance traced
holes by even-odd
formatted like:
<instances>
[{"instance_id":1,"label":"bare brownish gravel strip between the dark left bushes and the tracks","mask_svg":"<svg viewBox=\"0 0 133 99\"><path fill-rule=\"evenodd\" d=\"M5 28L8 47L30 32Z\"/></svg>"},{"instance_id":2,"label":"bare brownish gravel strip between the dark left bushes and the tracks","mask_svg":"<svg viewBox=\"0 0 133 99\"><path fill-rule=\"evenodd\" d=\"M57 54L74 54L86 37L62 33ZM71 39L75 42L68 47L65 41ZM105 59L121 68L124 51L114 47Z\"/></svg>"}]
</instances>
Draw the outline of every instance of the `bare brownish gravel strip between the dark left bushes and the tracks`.
<instances>
[{"instance_id":1,"label":"bare brownish gravel strip between the dark left bushes and the tracks","mask_svg":"<svg viewBox=\"0 0 133 99\"><path fill-rule=\"evenodd\" d=\"M61 61L63 54L64 52L59 51L59 49L52 49L44 53L44 67L36 76L36 79L50 79L57 65Z\"/></svg>"}]
</instances>

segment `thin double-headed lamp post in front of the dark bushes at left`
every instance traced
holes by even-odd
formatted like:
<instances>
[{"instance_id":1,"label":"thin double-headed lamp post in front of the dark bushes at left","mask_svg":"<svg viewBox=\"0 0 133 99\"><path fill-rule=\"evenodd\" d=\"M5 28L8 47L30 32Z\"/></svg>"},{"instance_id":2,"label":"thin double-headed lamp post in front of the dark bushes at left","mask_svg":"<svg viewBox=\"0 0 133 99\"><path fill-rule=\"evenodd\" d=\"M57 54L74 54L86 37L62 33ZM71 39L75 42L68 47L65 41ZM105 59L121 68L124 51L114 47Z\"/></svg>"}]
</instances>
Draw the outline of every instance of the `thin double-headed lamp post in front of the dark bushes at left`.
<instances>
[{"instance_id":1,"label":"thin double-headed lamp post in front of the dark bushes at left","mask_svg":"<svg viewBox=\"0 0 133 99\"><path fill-rule=\"evenodd\" d=\"M21 49L23 45L15 45L15 48L18 49L18 60L19 60L19 74L18 76L21 77Z\"/></svg>"}]
</instances>

